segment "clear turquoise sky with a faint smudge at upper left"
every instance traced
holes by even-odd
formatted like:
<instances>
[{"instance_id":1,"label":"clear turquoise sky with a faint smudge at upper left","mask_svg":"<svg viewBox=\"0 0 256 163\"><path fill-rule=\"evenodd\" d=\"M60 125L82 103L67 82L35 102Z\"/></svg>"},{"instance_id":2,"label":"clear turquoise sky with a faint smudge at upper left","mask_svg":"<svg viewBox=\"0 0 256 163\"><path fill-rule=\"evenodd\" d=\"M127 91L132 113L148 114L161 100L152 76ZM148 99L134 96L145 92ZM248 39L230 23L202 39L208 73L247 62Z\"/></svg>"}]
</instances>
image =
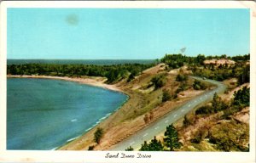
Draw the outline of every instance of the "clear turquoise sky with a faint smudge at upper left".
<instances>
[{"instance_id":1,"label":"clear turquoise sky with a faint smudge at upper left","mask_svg":"<svg viewBox=\"0 0 256 163\"><path fill-rule=\"evenodd\" d=\"M249 9L8 8L8 59L249 53Z\"/></svg>"}]
</instances>

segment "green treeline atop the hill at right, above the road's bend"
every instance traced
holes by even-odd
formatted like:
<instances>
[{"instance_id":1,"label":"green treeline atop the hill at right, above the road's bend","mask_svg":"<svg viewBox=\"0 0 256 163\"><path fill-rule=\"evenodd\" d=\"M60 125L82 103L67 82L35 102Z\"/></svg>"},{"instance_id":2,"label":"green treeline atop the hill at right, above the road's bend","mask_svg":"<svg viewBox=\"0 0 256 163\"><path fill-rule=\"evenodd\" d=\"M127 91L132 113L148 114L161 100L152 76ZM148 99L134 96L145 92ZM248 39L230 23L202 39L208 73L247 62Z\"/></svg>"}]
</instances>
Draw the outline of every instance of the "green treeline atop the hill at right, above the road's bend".
<instances>
[{"instance_id":1,"label":"green treeline atop the hill at right, above the road's bend","mask_svg":"<svg viewBox=\"0 0 256 163\"><path fill-rule=\"evenodd\" d=\"M230 59L236 63L234 65L224 64L204 64L207 59ZM224 81L225 79L237 78L238 85L250 82L250 65L247 61L250 59L250 54L229 57L221 56L205 56L202 54L196 57L189 57L182 54L166 54L161 62L166 63L169 69L177 69L183 65L188 65L189 70L192 70L194 76L207 77L209 79Z\"/></svg>"}]
</instances>

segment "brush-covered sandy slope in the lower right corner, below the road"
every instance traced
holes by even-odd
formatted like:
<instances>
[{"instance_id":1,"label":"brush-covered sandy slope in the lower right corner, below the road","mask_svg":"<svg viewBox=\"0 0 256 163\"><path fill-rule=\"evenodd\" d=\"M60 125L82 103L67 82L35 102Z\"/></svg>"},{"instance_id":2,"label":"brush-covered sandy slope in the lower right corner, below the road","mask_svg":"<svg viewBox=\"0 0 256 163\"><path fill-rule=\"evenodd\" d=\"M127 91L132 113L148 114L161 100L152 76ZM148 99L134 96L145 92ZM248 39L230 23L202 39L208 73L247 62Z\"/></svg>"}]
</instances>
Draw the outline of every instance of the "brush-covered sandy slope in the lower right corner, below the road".
<instances>
[{"instance_id":1,"label":"brush-covered sandy slope in the lower right corner, below the road","mask_svg":"<svg viewBox=\"0 0 256 163\"><path fill-rule=\"evenodd\" d=\"M186 120L177 121L175 126L183 143L183 148L180 150L248 151L250 109L247 104L234 102L236 93L244 87L249 88L249 83L232 88L219 96L218 104L224 104L223 109L212 113L198 111L207 110L212 106L211 102L190 111L186 115ZM242 94L243 98L247 97L246 93Z\"/></svg>"}]
</instances>

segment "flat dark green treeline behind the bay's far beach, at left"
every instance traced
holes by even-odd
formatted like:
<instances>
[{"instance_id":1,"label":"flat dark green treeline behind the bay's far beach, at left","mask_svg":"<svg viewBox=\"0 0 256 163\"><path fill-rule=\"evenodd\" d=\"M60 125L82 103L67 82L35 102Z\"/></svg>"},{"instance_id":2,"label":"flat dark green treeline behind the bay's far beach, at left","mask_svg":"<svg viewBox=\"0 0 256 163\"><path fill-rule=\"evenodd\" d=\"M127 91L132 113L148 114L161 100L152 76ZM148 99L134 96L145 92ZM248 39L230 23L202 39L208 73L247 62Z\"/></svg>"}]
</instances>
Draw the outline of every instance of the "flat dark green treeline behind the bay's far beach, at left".
<instances>
[{"instance_id":1,"label":"flat dark green treeline behind the bay's far beach, at left","mask_svg":"<svg viewBox=\"0 0 256 163\"><path fill-rule=\"evenodd\" d=\"M55 64L24 64L7 65L9 75L44 75L44 76L102 76L108 83L127 78L128 82L143 70L154 64L124 65L55 65Z\"/></svg>"}]
</instances>

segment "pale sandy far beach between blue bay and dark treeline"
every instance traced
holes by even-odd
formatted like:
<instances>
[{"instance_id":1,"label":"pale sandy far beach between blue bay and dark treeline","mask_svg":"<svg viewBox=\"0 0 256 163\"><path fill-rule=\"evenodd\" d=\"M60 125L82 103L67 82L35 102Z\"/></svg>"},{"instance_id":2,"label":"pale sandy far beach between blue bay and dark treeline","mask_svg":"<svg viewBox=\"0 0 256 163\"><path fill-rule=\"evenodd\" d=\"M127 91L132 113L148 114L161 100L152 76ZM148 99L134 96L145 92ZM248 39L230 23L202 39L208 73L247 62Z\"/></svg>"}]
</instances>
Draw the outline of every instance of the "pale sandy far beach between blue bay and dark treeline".
<instances>
[{"instance_id":1,"label":"pale sandy far beach between blue bay and dark treeline","mask_svg":"<svg viewBox=\"0 0 256 163\"><path fill-rule=\"evenodd\" d=\"M102 87L106 88L108 90L116 91L119 93L124 93L123 90L119 89L119 87L116 87L115 85L110 85L104 83L106 80L104 80L102 77L96 77L96 78L81 78L81 77L67 77L67 76L16 76L16 75L7 75L7 78L36 78L36 79L52 79L52 80L63 80L68 82L79 82L81 84L87 84L90 86L95 87ZM126 94L126 93L125 93Z\"/></svg>"}]
</instances>

